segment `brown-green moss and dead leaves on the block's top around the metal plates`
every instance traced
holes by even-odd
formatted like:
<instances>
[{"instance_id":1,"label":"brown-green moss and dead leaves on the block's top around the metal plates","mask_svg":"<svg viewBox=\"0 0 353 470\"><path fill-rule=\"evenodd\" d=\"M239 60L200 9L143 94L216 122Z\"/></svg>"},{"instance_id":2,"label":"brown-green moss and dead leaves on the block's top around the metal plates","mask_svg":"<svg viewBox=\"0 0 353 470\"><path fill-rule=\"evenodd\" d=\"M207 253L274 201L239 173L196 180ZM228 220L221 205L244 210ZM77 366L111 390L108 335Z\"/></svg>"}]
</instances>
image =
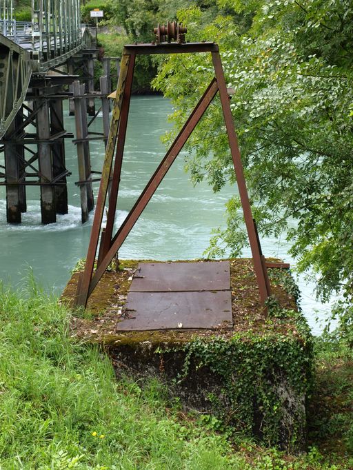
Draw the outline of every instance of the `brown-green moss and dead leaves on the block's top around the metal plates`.
<instances>
[{"instance_id":1,"label":"brown-green moss and dead leaves on the block's top around the metal plates","mask_svg":"<svg viewBox=\"0 0 353 470\"><path fill-rule=\"evenodd\" d=\"M274 260L274 259L270 259ZM207 262L207 260L204 260ZM117 272L110 270L105 272L96 289L88 300L87 311L90 318L74 318L72 329L77 336L88 341L103 344L137 343L148 338L152 343L163 343L168 340L172 343L185 343L195 334L194 330L170 330L170 331L117 331L117 323L123 312L126 296L130 288L132 276L141 262L156 263L154 260L121 260ZM185 261L184 261L185 262ZM280 271L272 269L272 271ZM76 294L79 272L72 274L68 285L61 296L61 301L72 305ZM278 331L283 334L299 336L292 311L296 311L294 297L283 288L283 283L272 283L272 291L279 301L282 309L281 318L268 318L263 315L259 303L259 293L256 278L252 267L252 260L230 260L230 281L232 290L232 317L233 329L200 330L197 335L209 337L213 334L230 338L235 332L253 331L263 334L264 331ZM288 314L285 312L288 311Z\"/></svg>"}]
</instances>

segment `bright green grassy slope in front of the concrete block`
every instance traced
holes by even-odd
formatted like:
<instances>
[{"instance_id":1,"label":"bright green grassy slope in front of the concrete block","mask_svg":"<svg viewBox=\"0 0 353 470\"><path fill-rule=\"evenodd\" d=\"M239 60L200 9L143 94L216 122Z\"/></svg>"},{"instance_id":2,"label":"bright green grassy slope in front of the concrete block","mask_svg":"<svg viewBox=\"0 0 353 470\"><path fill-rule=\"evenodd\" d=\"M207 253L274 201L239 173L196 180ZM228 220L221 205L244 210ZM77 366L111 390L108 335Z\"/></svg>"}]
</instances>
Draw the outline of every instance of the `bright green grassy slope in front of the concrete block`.
<instances>
[{"instance_id":1,"label":"bright green grassy slope in front of the concrete block","mask_svg":"<svg viewBox=\"0 0 353 470\"><path fill-rule=\"evenodd\" d=\"M348 369L340 382L344 432L331 436L346 440L345 452L324 458L312 447L293 457L229 442L209 429L212 420L171 409L158 382L142 389L128 378L117 381L103 351L71 338L69 321L70 311L34 283L21 294L0 287L0 469L353 468ZM342 352L335 354L342 363Z\"/></svg>"}]
</instances>

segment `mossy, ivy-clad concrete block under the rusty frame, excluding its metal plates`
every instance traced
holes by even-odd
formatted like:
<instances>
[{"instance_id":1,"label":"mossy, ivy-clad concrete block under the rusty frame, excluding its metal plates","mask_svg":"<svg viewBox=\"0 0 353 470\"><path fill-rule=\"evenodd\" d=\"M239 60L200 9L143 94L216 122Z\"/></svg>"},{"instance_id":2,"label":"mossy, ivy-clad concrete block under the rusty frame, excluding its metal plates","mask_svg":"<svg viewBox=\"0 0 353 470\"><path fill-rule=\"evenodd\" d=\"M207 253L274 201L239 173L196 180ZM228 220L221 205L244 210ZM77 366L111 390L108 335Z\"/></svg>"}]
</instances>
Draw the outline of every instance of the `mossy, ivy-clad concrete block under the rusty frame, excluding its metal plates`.
<instances>
[{"instance_id":1,"label":"mossy, ivy-clad concrete block under the rusty frame, excluding its metal plates","mask_svg":"<svg viewBox=\"0 0 353 470\"><path fill-rule=\"evenodd\" d=\"M185 411L214 414L235 431L251 433L269 445L303 449L310 338L305 321L295 313L294 298L283 289L288 279L283 285L278 279L272 283L281 315L266 319L251 260L230 260L233 329L118 331L138 263L122 261L118 272L104 274L88 301L92 318L74 318L72 336L103 345L118 376L159 378ZM77 278L74 274L68 283L65 302L74 297ZM239 390L237 384L242 384Z\"/></svg>"}]
</instances>

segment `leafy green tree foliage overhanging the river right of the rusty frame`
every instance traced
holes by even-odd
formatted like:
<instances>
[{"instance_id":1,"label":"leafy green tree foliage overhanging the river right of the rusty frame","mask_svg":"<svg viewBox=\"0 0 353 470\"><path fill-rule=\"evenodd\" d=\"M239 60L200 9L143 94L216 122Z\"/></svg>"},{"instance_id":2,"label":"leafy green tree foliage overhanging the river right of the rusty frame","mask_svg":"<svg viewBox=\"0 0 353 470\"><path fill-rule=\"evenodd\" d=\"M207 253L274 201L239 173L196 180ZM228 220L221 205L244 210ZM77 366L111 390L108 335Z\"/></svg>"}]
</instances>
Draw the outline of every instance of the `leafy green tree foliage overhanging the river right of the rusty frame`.
<instances>
[{"instance_id":1,"label":"leafy green tree foliage overhanging the river right of the rusty frame","mask_svg":"<svg viewBox=\"0 0 353 470\"><path fill-rule=\"evenodd\" d=\"M343 292L352 305L352 3L219 0L217 6L210 22L197 6L179 12L179 21L188 25L190 41L220 45L259 231L285 232L299 269L318 274L319 295ZM176 128L212 74L206 54L166 59L154 86L172 100ZM215 191L234 182L219 105L211 105L188 151L194 182L205 179ZM210 256L228 249L239 255L247 238L239 207L234 196L228 229L215 230Z\"/></svg>"}]
</instances>

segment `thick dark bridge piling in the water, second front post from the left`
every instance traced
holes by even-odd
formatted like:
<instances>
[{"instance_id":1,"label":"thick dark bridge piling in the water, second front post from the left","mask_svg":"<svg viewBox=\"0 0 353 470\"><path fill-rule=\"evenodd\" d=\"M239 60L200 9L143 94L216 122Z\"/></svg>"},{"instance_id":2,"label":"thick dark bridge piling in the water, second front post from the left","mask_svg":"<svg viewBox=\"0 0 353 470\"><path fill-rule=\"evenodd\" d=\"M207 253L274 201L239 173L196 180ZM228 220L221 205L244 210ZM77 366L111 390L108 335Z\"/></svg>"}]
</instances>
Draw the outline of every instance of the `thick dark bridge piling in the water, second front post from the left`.
<instances>
[{"instance_id":1,"label":"thick dark bridge piling in the water, second front post from the left","mask_svg":"<svg viewBox=\"0 0 353 470\"><path fill-rule=\"evenodd\" d=\"M45 98L35 101L37 108L37 139L39 176L41 181L41 221L54 223L57 221L55 208L55 190L50 183L53 179L52 152L50 150L49 105Z\"/></svg>"}]
</instances>

